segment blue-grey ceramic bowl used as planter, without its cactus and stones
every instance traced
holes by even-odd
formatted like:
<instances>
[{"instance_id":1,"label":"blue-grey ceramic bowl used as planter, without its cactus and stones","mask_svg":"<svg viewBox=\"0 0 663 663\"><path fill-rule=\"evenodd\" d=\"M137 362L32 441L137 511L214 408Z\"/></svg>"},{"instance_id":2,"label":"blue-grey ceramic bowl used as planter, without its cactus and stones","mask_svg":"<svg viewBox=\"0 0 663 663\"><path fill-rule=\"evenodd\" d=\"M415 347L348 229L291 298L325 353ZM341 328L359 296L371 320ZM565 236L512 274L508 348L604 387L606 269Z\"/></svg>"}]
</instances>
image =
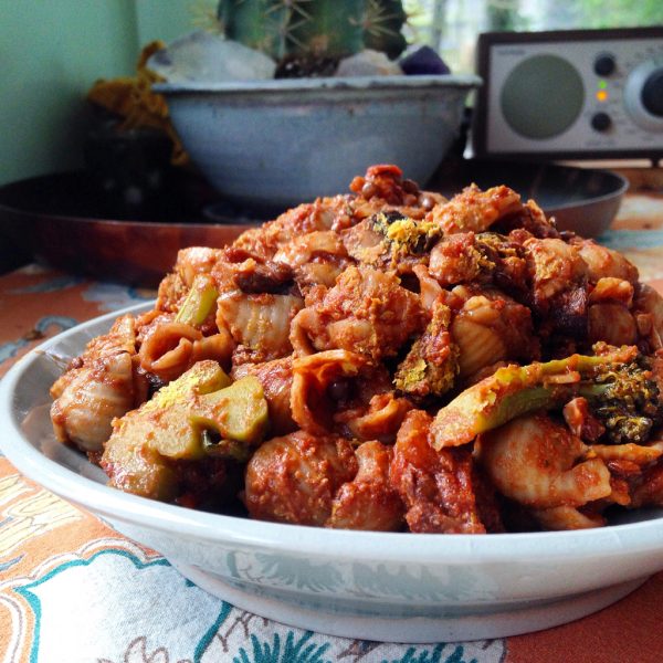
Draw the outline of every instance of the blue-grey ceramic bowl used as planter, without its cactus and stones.
<instances>
[{"instance_id":1,"label":"blue-grey ceramic bowl used as planter, without its cactus and stones","mask_svg":"<svg viewBox=\"0 0 663 663\"><path fill-rule=\"evenodd\" d=\"M476 76L161 83L193 164L224 198L283 210L346 191L372 164L422 186L459 135Z\"/></svg>"}]
</instances>

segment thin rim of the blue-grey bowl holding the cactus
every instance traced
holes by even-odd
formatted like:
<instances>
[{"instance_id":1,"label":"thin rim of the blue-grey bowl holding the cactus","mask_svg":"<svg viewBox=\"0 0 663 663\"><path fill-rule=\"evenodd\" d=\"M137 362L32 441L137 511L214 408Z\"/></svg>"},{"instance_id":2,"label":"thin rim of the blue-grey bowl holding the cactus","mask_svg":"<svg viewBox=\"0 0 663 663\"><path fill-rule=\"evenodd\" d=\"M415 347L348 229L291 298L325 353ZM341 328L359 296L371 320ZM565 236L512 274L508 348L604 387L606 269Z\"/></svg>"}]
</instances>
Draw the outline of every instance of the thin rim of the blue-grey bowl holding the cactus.
<instances>
[{"instance_id":1,"label":"thin rim of the blue-grey bowl holding the cactus","mask_svg":"<svg viewBox=\"0 0 663 663\"><path fill-rule=\"evenodd\" d=\"M260 81L178 81L155 83L158 94L305 92L305 91L382 91L382 90L474 90L483 85L475 74L425 74L418 76L322 76L315 78L265 78Z\"/></svg>"}]
</instances>

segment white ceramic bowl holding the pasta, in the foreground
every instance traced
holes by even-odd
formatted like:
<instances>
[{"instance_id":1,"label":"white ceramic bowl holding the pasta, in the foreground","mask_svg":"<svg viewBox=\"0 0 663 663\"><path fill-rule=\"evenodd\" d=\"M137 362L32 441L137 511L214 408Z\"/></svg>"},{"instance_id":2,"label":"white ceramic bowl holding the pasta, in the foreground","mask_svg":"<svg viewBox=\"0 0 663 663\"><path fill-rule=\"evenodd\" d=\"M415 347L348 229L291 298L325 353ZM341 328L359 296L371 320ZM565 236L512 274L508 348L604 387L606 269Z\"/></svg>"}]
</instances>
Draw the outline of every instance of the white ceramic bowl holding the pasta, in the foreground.
<instances>
[{"instance_id":1,"label":"white ceramic bowl holding the pasta, in the foreground","mask_svg":"<svg viewBox=\"0 0 663 663\"><path fill-rule=\"evenodd\" d=\"M343 532L186 509L104 485L55 442L48 352L73 356L112 314L45 343L0 381L0 441L28 477L164 554L200 587L257 614L348 638L439 642L505 636L603 608L663 569L663 509L561 533Z\"/></svg>"}]
</instances>

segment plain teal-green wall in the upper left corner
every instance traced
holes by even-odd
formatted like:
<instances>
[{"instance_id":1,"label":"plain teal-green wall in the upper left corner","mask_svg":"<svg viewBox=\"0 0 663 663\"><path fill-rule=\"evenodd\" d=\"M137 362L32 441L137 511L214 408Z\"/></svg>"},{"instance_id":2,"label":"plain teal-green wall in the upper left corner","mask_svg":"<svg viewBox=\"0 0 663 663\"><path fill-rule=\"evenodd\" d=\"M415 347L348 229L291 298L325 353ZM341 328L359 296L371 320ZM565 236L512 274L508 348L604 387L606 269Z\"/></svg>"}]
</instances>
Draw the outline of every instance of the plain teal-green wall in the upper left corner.
<instances>
[{"instance_id":1,"label":"plain teal-green wall in the upper left corner","mask_svg":"<svg viewBox=\"0 0 663 663\"><path fill-rule=\"evenodd\" d=\"M191 20L190 0L0 0L0 185L80 167L90 86Z\"/></svg>"}]
</instances>

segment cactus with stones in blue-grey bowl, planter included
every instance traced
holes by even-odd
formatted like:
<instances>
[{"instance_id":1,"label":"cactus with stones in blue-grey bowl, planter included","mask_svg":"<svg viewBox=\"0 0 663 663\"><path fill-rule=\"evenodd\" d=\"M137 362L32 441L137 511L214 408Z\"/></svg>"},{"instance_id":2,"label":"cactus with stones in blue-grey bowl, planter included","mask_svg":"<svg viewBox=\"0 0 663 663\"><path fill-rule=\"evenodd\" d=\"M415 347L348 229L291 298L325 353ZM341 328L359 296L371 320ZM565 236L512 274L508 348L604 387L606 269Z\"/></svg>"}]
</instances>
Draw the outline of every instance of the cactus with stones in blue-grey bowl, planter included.
<instances>
[{"instance_id":1,"label":"cactus with stones in blue-grey bowl, planter included","mask_svg":"<svg viewBox=\"0 0 663 663\"><path fill-rule=\"evenodd\" d=\"M425 183L480 84L406 75L400 0L220 0L217 19L221 35L152 55L166 81L152 91L219 193L262 212L344 191L377 162Z\"/></svg>"}]
</instances>

